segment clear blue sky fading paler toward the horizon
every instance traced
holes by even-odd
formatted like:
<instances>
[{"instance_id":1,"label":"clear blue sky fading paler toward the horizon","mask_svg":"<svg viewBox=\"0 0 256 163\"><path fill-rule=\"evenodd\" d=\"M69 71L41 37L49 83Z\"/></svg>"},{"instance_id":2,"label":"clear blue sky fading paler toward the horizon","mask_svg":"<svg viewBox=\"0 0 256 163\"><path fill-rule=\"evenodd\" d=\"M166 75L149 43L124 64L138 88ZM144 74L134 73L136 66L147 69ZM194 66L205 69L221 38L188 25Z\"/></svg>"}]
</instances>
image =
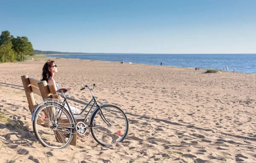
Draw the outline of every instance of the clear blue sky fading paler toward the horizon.
<instances>
[{"instance_id":1,"label":"clear blue sky fading paler toward the horizon","mask_svg":"<svg viewBox=\"0 0 256 163\"><path fill-rule=\"evenodd\" d=\"M256 53L256 0L1 0L0 15L42 51Z\"/></svg>"}]
</instances>

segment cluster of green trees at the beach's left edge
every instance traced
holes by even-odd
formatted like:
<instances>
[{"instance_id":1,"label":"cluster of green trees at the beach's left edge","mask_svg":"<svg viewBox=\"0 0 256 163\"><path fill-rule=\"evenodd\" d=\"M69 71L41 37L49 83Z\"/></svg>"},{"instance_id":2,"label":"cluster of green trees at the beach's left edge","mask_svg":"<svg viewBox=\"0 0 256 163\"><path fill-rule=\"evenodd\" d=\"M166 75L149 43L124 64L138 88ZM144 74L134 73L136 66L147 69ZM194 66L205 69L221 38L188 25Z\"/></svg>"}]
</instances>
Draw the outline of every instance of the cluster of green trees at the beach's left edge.
<instances>
[{"instance_id":1,"label":"cluster of green trees at the beach's left edge","mask_svg":"<svg viewBox=\"0 0 256 163\"><path fill-rule=\"evenodd\" d=\"M16 38L9 31L0 35L0 62L24 61L26 55L34 51L31 42L25 36Z\"/></svg>"}]
</instances>

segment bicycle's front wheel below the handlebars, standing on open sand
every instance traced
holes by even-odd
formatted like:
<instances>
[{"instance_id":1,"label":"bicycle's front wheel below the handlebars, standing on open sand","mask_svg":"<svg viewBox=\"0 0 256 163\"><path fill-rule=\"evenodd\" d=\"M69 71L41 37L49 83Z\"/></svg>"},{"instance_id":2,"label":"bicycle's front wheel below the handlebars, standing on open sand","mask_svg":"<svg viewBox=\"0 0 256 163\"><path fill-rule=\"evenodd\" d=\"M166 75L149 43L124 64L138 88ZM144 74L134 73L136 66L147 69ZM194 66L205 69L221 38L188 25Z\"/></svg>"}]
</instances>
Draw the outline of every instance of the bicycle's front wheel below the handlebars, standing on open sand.
<instances>
[{"instance_id":1,"label":"bicycle's front wheel below the handlebars, standing on open sand","mask_svg":"<svg viewBox=\"0 0 256 163\"><path fill-rule=\"evenodd\" d=\"M93 125L90 128L93 138L102 146L122 142L129 128L125 113L112 104L104 105L101 110L110 124L105 121L102 112L98 108L90 121L90 124Z\"/></svg>"}]
</instances>

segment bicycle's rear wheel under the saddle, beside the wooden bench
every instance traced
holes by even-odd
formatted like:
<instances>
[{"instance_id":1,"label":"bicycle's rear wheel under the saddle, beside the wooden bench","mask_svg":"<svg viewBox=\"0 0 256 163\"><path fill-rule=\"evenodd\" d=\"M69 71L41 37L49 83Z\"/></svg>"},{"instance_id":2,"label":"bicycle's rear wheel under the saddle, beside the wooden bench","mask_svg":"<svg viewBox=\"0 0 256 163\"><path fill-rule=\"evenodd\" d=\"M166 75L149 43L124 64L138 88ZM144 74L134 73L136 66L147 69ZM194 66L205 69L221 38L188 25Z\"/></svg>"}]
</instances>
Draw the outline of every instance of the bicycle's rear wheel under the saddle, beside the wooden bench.
<instances>
[{"instance_id":1,"label":"bicycle's rear wheel under the saddle, beside the wooden bench","mask_svg":"<svg viewBox=\"0 0 256 163\"><path fill-rule=\"evenodd\" d=\"M35 137L44 147L51 149L62 149L70 144L73 126L70 113L55 102L48 102L39 107L33 121Z\"/></svg>"}]
</instances>

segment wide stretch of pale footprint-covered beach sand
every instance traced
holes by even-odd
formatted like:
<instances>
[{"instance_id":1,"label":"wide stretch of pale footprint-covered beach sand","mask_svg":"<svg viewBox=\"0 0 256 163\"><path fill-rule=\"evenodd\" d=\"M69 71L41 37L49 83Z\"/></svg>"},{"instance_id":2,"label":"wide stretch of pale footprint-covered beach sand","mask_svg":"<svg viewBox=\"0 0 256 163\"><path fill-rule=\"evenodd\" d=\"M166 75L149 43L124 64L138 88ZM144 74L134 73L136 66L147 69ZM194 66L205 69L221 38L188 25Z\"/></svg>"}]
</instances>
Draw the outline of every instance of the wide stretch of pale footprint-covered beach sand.
<instances>
[{"instance_id":1,"label":"wide stretch of pale footprint-covered beach sand","mask_svg":"<svg viewBox=\"0 0 256 163\"><path fill-rule=\"evenodd\" d=\"M100 146L89 134L78 146L44 148L32 129L20 76L41 79L46 59L0 64L0 162L255 163L256 74L80 59L56 59L55 80L72 88L71 104L115 104L129 120L122 143ZM40 103L41 97L36 98ZM10 121L6 123L7 119Z\"/></svg>"}]
</instances>

